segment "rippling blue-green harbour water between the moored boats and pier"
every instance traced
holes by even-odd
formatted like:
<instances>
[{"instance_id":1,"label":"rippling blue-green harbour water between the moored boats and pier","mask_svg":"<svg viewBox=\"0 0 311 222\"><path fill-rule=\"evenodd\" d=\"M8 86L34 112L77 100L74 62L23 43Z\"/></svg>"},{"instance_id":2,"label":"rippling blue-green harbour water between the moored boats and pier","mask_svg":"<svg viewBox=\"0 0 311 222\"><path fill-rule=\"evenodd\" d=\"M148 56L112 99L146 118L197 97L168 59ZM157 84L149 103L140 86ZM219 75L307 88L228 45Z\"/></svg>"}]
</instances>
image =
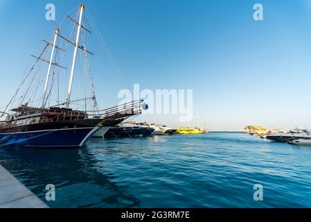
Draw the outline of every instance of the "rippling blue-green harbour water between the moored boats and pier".
<instances>
[{"instance_id":1,"label":"rippling blue-green harbour water between the moored boats and pier","mask_svg":"<svg viewBox=\"0 0 311 222\"><path fill-rule=\"evenodd\" d=\"M311 146L244 133L1 148L0 163L50 207L311 207ZM44 198L47 184L55 201Z\"/></svg>"}]
</instances>

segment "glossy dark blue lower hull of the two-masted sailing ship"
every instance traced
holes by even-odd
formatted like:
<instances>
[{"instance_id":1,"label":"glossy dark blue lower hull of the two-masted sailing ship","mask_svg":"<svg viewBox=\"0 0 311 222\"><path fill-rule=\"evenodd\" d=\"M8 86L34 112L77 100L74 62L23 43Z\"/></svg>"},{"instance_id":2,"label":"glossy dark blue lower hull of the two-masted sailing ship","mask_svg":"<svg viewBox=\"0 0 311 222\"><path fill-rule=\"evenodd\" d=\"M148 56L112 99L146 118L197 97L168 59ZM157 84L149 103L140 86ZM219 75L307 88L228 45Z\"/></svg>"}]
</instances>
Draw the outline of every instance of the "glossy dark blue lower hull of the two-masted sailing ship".
<instances>
[{"instance_id":1,"label":"glossy dark blue lower hull of the two-masted sailing ship","mask_svg":"<svg viewBox=\"0 0 311 222\"><path fill-rule=\"evenodd\" d=\"M5 146L79 147L85 144L89 136L95 131L94 128L70 128L23 133L0 133L0 142Z\"/></svg>"}]
</instances>

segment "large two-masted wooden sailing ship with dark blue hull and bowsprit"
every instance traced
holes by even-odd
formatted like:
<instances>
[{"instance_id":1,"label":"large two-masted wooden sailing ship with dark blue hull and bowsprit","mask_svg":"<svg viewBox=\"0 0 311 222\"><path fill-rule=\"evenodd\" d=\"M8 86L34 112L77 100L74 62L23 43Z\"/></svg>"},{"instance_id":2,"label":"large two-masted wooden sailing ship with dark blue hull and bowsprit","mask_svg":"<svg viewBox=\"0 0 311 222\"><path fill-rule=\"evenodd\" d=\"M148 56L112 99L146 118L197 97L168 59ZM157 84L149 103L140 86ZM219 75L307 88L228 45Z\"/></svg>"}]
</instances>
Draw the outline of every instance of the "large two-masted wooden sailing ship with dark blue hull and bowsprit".
<instances>
[{"instance_id":1,"label":"large two-masted wooden sailing ship with dark blue hull and bowsprit","mask_svg":"<svg viewBox=\"0 0 311 222\"><path fill-rule=\"evenodd\" d=\"M142 100L132 101L130 103L118 105L106 110L100 110L96 101L93 83L91 83L93 93L92 96L78 100L71 99L77 53L82 50L82 54L85 56L86 64L89 63L87 60L87 54L91 53L87 51L85 46L85 31L90 31L85 28L84 24L82 24L82 21L84 21L84 12L85 6L81 4L78 7L76 19L66 15L66 17L69 17L71 22L73 22L73 25L76 27L77 32L75 42L62 36L60 34L60 28L56 28L55 33L53 33L53 43L44 41L46 42L46 46L43 51L39 56L33 56L37 59L35 61L35 65L31 67L29 73L21 81L21 85L25 83L26 78L30 76L39 62L46 62L48 64L48 69L46 73L43 96L37 100L40 100L39 103L41 104L33 106L29 104L30 102L24 103L28 89L33 87L34 77L30 80L30 85L28 86L26 93L21 96L23 98L21 103L17 106L17 108L12 108L9 111L10 113L6 112L9 105L12 106L12 103L17 100L17 94L19 93L19 89L21 87L21 85L19 85L17 92L6 106L6 109L1 112L2 116L6 115L6 119L1 121L0 124L1 146L17 145L49 148L80 147L83 146L87 142L87 139L96 133L96 131L107 131L111 126L116 126L127 117L141 114ZM82 45L80 45L79 41L80 36L82 36L83 39ZM66 69L55 61L57 58L57 51L65 51L64 49L61 49L60 46L56 45L58 37L65 40L67 44L73 45L73 58L68 89L66 92L66 101L48 106L47 104L50 104L51 101L51 90L55 86L55 73L53 72L53 74L51 74L52 69L55 67ZM45 55L48 47L51 48L51 56L49 60L45 59L43 56ZM91 54L93 55L93 53ZM35 75L36 74L34 74L34 76ZM39 85L40 82L38 83L38 86ZM51 89L48 90L49 87L51 87ZM37 93L37 89L35 89L35 92ZM87 110L87 105L85 105L85 110L78 110L71 107L73 103L78 103L78 101L83 101L87 104L86 101L89 100L93 101L93 110ZM29 99L29 101L34 103L35 99Z\"/></svg>"}]
</instances>

